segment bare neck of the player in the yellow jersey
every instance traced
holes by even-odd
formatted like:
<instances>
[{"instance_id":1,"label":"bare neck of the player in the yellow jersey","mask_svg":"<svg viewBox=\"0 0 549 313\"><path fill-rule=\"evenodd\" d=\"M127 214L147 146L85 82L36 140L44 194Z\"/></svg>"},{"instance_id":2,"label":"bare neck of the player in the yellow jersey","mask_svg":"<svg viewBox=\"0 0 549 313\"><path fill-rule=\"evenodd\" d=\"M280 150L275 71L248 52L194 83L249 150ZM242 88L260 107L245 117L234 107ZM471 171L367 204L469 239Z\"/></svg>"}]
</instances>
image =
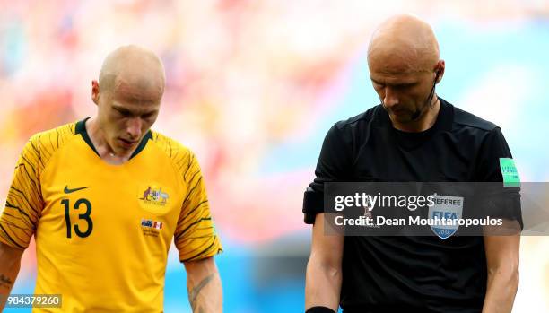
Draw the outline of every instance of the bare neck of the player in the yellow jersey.
<instances>
[{"instance_id":1,"label":"bare neck of the player in the yellow jersey","mask_svg":"<svg viewBox=\"0 0 549 313\"><path fill-rule=\"evenodd\" d=\"M86 120L85 127L86 132L88 133L88 136L92 141L93 147L95 148L95 151L97 151L103 161L106 161L109 164L123 164L130 159L132 153L135 151L135 149L132 149L131 151L127 151L123 155L115 152L114 149L112 149L112 147L107 142L105 133L97 122L96 117L92 117Z\"/></svg>"}]
</instances>

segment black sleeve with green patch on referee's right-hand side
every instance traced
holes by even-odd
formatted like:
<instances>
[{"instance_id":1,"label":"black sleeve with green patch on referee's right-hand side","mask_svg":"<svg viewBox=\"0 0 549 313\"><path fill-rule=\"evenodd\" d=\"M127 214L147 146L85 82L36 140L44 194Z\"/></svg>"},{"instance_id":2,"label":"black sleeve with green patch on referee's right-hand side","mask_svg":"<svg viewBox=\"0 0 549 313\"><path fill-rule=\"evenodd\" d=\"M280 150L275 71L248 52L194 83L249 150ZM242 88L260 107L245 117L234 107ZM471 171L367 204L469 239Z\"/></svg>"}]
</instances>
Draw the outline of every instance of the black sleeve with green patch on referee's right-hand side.
<instances>
[{"instance_id":1,"label":"black sleeve with green patch on referee's right-hand side","mask_svg":"<svg viewBox=\"0 0 549 313\"><path fill-rule=\"evenodd\" d=\"M509 145L501 134L500 127L495 127L484 138L475 175L476 181L486 182L483 191L485 195L482 196L484 200L481 202L482 212L483 215L517 221L522 229L524 224L520 206L520 188L517 185L505 184L506 178L503 177L502 165L504 160L510 160L514 164Z\"/></svg>"}]
</instances>

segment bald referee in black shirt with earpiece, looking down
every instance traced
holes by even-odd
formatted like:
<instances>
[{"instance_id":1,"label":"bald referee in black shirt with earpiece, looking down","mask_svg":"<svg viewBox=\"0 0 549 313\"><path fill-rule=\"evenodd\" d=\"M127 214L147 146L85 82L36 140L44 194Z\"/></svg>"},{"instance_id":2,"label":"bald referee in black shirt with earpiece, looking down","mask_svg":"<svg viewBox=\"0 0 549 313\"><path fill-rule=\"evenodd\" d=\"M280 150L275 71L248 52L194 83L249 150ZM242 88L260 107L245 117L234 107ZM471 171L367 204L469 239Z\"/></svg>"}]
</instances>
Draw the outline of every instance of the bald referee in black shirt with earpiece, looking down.
<instances>
[{"instance_id":1,"label":"bald referee in black shirt with earpiece, looking down","mask_svg":"<svg viewBox=\"0 0 549 313\"><path fill-rule=\"evenodd\" d=\"M498 182L501 158L512 161L498 126L437 96L445 64L426 22L410 15L383 22L368 65L381 105L328 131L305 192L305 222L314 224L307 312L510 312L519 231L449 239L325 234L325 182Z\"/></svg>"}]
</instances>

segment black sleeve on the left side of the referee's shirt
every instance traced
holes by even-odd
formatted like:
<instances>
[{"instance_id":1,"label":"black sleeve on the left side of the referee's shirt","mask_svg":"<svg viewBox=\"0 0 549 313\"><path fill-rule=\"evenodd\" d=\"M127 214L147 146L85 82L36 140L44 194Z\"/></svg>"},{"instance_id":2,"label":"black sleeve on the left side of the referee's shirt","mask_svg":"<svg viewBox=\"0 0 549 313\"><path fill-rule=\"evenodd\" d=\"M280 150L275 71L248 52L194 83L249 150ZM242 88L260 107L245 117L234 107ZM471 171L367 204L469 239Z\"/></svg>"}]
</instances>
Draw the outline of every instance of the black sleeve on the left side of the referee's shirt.
<instances>
[{"instance_id":1,"label":"black sleeve on the left side of the referee's shirt","mask_svg":"<svg viewBox=\"0 0 549 313\"><path fill-rule=\"evenodd\" d=\"M324 183L348 180L351 162L350 143L335 124L328 130L322 143L315 170L316 178L309 184L303 196L302 212L305 223L313 224L316 215L325 210Z\"/></svg>"}]
</instances>

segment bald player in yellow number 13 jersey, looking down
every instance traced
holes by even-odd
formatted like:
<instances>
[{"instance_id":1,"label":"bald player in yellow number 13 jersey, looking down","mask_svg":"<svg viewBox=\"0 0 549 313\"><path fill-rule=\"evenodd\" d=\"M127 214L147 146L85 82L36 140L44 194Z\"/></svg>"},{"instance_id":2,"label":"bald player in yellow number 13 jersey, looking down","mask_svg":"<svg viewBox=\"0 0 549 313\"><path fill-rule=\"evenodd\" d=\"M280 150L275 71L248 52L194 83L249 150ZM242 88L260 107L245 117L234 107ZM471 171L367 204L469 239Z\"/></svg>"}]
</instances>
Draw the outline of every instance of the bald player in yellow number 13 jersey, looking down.
<instances>
[{"instance_id":1,"label":"bald player in yellow number 13 jersey, looking down","mask_svg":"<svg viewBox=\"0 0 549 313\"><path fill-rule=\"evenodd\" d=\"M161 104L161 60L113 51L92 82L97 115L30 138L0 216L0 310L35 236L39 312L161 312L171 239L193 311L221 312L215 234L196 156L150 130Z\"/></svg>"}]
</instances>

